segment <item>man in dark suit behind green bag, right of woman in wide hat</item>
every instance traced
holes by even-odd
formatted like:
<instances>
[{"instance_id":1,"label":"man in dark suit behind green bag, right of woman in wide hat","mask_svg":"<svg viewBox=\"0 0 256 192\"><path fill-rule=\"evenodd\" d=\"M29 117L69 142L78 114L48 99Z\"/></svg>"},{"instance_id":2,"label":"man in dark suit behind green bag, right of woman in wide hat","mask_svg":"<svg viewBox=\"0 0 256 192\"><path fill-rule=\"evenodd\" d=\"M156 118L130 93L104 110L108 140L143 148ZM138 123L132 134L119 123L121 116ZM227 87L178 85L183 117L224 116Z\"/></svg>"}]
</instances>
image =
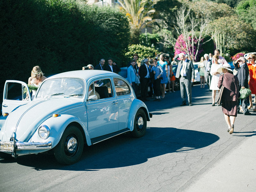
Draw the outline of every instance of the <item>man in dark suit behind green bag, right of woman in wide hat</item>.
<instances>
[{"instance_id":1,"label":"man in dark suit behind green bag, right of woman in wide hat","mask_svg":"<svg viewBox=\"0 0 256 192\"><path fill-rule=\"evenodd\" d=\"M248 76L249 76L249 68L246 64L246 59L244 57L240 57L236 60L235 69L237 70L236 76L239 80L238 90L247 88L248 89ZM240 101L241 100L241 101ZM242 108L244 115L251 115L247 108L247 99L238 99L237 101L237 113L240 113L239 104L242 102Z\"/></svg>"}]
</instances>

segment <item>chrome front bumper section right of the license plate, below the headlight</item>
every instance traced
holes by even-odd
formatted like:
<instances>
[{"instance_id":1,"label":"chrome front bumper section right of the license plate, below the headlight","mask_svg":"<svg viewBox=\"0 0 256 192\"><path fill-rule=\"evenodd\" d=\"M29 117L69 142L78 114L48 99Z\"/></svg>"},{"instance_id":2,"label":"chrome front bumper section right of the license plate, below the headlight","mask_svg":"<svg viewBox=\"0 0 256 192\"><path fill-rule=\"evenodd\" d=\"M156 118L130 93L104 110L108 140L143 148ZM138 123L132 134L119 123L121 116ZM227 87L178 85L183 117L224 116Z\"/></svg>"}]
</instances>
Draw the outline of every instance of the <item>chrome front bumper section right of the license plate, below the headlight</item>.
<instances>
[{"instance_id":1,"label":"chrome front bumper section right of the license plate, below the headlight","mask_svg":"<svg viewBox=\"0 0 256 192\"><path fill-rule=\"evenodd\" d=\"M52 148L52 142L48 141L46 143L40 143L40 142L16 142L16 149L23 149L23 150L34 150L34 149L51 149Z\"/></svg>"}]
</instances>

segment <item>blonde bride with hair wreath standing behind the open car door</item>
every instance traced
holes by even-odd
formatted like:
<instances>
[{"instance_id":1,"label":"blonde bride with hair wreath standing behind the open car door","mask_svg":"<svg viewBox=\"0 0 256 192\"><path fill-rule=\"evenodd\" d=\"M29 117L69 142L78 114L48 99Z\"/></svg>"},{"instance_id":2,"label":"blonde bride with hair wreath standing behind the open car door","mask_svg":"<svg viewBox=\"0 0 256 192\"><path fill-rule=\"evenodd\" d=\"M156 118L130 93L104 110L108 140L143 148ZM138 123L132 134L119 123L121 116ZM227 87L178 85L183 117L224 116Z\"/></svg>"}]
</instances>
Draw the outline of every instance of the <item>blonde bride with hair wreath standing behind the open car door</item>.
<instances>
[{"instance_id":1,"label":"blonde bride with hair wreath standing behind the open car door","mask_svg":"<svg viewBox=\"0 0 256 192\"><path fill-rule=\"evenodd\" d=\"M39 66L33 67L31 71L31 77L28 78L28 85L34 85L39 87L39 85L46 79L41 68ZM32 90L32 99L36 94L36 90Z\"/></svg>"}]
</instances>

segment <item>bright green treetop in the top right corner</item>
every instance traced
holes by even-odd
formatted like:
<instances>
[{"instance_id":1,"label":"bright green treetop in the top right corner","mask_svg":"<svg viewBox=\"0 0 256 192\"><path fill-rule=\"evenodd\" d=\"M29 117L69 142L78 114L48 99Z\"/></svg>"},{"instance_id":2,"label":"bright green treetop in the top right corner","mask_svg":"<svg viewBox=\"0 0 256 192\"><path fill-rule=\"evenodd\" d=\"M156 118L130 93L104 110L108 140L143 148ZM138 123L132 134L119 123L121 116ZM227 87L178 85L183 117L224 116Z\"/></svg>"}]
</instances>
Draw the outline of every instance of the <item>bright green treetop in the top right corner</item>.
<instances>
[{"instance_id":1,"label":"bright green treetop in the top right corner","mask_svg":"<svg viewBox=\"0 0 256 192\"><path fill-rule=\"evenodd\" d=\"M252 27L256 29L256 1L255 0L241 1L236 7L236 12L242 20L252 24Z\"/></svg>"}]
</instances>

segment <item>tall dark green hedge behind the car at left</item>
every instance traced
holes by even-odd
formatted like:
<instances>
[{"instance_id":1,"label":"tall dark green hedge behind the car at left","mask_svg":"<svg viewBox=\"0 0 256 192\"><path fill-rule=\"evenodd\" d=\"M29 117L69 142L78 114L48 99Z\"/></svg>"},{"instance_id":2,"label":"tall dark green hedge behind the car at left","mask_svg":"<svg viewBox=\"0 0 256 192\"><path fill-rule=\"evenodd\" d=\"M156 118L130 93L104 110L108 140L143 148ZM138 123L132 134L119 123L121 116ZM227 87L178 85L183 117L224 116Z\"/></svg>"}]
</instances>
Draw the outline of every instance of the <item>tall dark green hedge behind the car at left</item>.
<instances>
[{"instance_id":1,"label":"tall dark green hedge behind the car at left","mask_svg":"<svg viewBox=\"0 0 256 192\"><path fill-rule=\"evenodd\" d=\"M39 65L46 76L80 70L112 57L126 65L130 28L117 9L76 0L0 0L0 87L28 81Z\"/></svg>"}]
</instances>

